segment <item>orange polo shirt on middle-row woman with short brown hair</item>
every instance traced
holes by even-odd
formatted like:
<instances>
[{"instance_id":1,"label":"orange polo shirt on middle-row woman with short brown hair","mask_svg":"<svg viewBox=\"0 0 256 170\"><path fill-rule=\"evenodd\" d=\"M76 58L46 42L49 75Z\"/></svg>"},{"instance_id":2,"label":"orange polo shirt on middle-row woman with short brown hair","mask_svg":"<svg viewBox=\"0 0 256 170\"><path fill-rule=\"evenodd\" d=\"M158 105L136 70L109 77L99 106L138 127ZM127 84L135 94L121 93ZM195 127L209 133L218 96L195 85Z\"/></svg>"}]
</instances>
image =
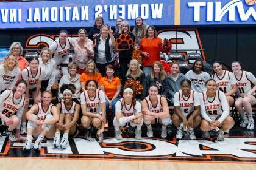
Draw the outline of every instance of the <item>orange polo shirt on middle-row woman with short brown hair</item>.
<instances>
[{"instance_id":1,"label":"orange polo shirt on middle-row woman with short brown hair","mask_svg":"<svg viewBox=\"0 0 256 170\"><path fill-rule=\"evenodd\" d=\"M115 94L117 87L121 86L121 81L118 77L113 77L112 81L108 81L107 77L102 77L99 81L100 86L104 86L105 94L111 100Z\"/></svg>"}]
</instances>

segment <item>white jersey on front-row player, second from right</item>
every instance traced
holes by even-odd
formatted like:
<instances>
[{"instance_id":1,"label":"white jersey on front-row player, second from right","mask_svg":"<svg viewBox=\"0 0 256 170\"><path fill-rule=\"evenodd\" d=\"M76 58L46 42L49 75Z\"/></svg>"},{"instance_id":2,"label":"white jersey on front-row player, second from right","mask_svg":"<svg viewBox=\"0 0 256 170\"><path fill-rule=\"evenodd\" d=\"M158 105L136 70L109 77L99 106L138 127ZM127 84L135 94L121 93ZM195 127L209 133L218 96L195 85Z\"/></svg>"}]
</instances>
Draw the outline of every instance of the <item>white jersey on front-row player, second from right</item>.
<instances>
[{"instance_id":1,"label":"white jersey on front-row player, second from right","mask_svg":"<svg viewBox=\"0 0 256 170\"><path fill-rule=\"evenodd\" d=\"M182 115L185 117L188 116L191 112L194 111L194 91L190 90L190 95L188 97L185 97L182 94L182 90L179 90L179 101L180 101L180 112L182 112Z\"/></svg>"}]
</instances>

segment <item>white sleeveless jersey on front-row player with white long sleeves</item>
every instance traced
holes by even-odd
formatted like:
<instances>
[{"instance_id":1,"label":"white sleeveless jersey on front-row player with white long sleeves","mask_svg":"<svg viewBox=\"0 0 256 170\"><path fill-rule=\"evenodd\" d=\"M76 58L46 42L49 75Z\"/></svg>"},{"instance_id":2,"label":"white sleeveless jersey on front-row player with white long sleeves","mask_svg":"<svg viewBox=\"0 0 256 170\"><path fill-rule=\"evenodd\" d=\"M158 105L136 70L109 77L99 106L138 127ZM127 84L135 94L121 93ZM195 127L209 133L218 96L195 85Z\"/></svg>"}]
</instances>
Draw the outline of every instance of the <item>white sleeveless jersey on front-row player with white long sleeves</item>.
<instances>
[{"instance_id":1,"label":"white sleeveless jersey on front-row player with white long sleeves","mask_svg":"<svg viewBox=\"0 0 256 170\"><path fill-rule=\"evenodd\" d=\"M207 91L202 92L206 114L212 120L216 120L216 118L222 115L221 99L219 98L219 92L219 90L216 90L215 97L213 97L213 100L208 99Z\"/></svg>"}]
</instances>

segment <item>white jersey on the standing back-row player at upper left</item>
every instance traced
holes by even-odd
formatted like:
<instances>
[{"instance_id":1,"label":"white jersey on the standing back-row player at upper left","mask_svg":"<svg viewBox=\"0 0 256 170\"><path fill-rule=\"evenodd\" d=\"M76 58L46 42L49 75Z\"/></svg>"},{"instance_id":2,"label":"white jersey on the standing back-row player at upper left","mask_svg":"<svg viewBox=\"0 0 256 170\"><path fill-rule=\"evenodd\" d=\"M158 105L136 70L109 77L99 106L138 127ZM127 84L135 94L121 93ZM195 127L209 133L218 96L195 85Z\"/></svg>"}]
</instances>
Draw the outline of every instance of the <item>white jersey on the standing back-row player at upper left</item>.
<instances>
[{"instance_id":1,"label":"white jersey on the standing back-row player at upper left","mask_svg":"<svg viewBox=\"0 0 256 170\"><path fill-rule=\"evenodd\" d=\"M57 47L54 51L53 60L55 61L56 64L61 64L63 60L65 60L65 58L68 57L71 44L70 44L69 38L66 38L66 43L64 44L64 46L60 44L59 39L55 40L54 42L57 43Z\"/></svg>"}]
</instances>

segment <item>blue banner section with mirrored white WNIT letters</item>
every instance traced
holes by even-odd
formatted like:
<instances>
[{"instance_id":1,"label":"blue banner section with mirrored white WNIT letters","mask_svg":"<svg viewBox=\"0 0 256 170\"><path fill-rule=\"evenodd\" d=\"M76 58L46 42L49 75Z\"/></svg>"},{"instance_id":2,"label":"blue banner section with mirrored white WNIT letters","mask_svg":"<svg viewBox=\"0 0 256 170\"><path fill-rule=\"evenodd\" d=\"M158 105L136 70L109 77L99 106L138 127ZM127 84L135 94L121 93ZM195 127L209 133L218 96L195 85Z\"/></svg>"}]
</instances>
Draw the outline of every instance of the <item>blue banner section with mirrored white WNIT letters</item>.
<instances>
[{"instance_id":1,"label":"blue banner section with mirrored white WNIT letters","mask_svg":"<svg viewBox=\"0 0 256 170\"><path fill-rule=\"evenodd\" d=\"M180 0L180 25L256 24L255 0Z\"/></svg>"}]
</instances>

